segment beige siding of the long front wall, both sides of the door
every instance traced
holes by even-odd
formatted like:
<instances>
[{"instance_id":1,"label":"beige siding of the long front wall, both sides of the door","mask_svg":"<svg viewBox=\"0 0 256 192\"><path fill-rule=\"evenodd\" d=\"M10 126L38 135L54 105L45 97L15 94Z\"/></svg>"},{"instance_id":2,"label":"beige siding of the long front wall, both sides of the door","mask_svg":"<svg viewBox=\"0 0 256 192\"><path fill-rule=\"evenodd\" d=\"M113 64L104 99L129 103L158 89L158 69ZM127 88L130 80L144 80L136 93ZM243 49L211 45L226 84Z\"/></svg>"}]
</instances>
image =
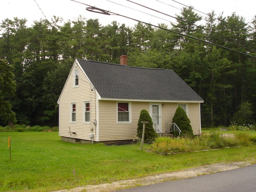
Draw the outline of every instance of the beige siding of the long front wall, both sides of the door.
<instances>
[{"instance_id":1,"label":"beige siding of the long front wall, both sides of the door","mask_svg":"<svg viewBox=\"0 0 256 192\"><path fill-rule=\"evenodd\" d=\"M149 112L150 102L130 102L132 105L132 122L117 123L117 101L99 100L99 141L130 140L137 134L137 124L140 111ZM162 106L164 104L164 106ZM166 122L172 122L177 103L161 103L162 132L165 132ZM188 116L194 134L200 134L200 113L198 103L188 103Z\"/></svg>"}]
</instances>

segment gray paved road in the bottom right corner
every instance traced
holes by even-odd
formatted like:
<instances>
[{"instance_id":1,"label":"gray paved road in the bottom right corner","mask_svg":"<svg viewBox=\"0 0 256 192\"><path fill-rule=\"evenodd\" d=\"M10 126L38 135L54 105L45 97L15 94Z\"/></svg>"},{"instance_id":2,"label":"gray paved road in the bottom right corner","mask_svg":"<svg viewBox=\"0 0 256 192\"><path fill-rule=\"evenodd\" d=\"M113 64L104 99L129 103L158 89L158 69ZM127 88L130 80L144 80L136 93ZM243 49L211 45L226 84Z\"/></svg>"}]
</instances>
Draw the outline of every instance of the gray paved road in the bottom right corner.
<instances>
[{"instance_id":1,"label":"gray paved road in the bottom right corner","mask_svg":"<svg viewBox=\"0 0 256 192\"><path fill-rule=\"evenodd\" d=\"M256 192L256 164L116 192Z\"/></svg>"}]
</instances>

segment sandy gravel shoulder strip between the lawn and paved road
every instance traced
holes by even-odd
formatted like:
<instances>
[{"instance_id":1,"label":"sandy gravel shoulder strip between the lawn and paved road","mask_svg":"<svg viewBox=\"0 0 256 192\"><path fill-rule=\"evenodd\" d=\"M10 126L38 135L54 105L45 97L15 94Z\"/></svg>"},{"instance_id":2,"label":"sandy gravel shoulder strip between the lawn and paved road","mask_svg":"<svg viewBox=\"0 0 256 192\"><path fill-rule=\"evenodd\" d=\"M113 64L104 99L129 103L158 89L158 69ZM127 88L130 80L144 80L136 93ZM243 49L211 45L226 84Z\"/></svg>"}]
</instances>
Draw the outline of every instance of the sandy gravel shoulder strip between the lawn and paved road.
<instances>
[{"instance_id":1,"label":"sandy gravel shoulder strip between the lawn and paved road","mask_svg":"<svg viewBox=\"0 0 256 192\"><path fill-rule=\"evenodd\" d=\"M147 176L138 179L120 180L112 183L104 183L99 185L87 185L83 187L77 187L70 190L58 190L56 192L112 192L116 190L122 190L126 188L132 188L135 186L145 186L156 183L161 183L169 180L177 180L195 177L203 174L210 174L220 171L226 171L236 169L242 166L251 165L252 162L234 162L234 163L216 163L212 165L199 166L196 168L190 168L182 171L170 172L165 174L156 174L153 176Z\"/></svg>"}]
</instances>

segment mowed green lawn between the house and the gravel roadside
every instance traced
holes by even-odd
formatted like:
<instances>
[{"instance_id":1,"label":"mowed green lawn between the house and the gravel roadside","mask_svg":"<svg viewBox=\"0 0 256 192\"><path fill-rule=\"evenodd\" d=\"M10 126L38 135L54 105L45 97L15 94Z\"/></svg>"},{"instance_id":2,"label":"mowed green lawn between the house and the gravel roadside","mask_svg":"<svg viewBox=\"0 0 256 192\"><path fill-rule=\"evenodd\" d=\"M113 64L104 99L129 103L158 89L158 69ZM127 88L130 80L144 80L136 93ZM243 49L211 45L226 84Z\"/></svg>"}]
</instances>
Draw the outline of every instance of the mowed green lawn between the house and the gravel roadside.
<instances>
[{"instance_id":1,"label":"mowed green lawn between the house and the gravel roadside","mask_svg":"<svg viewBox=\"0 0 256 192\"><path fill-rule=\"evenodd\" d=\"M0 191L46 192L216 162L254 160L256 146L166 156L141 151L139 144L72 144L61 141L58 132L2 132L0 154Z\"/></svg>"}]
</instances>

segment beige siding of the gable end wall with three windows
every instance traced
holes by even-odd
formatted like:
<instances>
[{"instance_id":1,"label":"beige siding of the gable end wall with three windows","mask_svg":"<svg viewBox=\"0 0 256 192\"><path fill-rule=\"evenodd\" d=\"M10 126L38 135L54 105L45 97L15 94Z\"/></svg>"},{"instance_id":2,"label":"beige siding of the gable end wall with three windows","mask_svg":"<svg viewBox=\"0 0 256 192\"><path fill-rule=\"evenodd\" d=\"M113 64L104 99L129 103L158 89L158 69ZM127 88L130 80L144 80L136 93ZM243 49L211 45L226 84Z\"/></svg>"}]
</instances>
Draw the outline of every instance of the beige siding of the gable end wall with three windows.
<instances>
[{"instance_id":1,"label":"beige siding of the gable end wall with three windows","mask_svg":"<svg viewBox=\"0 0 256 192\"><path fill-rule=\"evenodd\" d=\"M74 66L70 72L70 75L68 76L68 80L59 99L59 135L70 138L90 140L90 128L93 128L93 133L96 134L96 126L94 126L92 123L92 121L96 119L96 92L94 90L92 91L92 86L80 69L78 87L73 86ZM84 123L84 101L90 101L90 123ZM70 103L76 103L75 123L70 122ZM71 132L76 132L76 134L70 135L70 133L68 133L68 127L70 127ZM96 140L96 135L94 135L94 140Z\"/></svg>"}]
</instances>

